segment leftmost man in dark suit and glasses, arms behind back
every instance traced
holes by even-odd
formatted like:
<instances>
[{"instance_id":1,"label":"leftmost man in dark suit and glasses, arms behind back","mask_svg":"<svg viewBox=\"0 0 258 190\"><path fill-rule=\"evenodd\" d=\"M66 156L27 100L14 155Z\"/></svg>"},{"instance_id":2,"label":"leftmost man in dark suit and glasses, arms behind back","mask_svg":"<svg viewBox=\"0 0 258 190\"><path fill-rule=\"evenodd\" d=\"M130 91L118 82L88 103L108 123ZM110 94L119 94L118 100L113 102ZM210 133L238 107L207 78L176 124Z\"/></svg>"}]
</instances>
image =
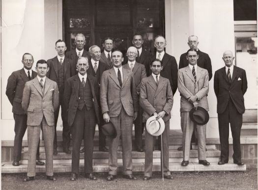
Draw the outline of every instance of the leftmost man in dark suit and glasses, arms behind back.
<instances>
[{"instance_id":1,"label":"leftmost man in dark suit and glasses, arms behind back","mask_svg":"<svg viewBox=\"0 0 258 190\"><path fill-rule=\"evenodd\" d=\"M23 69L14 71L9 76L6 86L6 92L10 103L12 104L12 112L14 118L14 144L13 144L13 166L19 166L22 153L23 136L27 129L27 114L22 109L23 89L26 82L37 76L35 71L32 71L33 56L30 53L23 55ZM43 166L45 163L39 161L39 143L36 155L36 165Z\"/></svg>"}]
</instances>

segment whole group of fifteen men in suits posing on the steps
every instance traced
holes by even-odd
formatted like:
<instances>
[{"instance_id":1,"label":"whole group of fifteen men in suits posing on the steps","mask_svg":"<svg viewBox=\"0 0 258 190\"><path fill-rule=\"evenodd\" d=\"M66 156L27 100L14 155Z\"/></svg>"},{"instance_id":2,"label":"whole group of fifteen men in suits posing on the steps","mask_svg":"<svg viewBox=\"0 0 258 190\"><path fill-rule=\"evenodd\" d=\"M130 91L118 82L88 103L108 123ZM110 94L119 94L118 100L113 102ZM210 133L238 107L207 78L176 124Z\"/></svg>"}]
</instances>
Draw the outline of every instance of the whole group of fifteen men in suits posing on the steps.
<instances>
[{"instance_id":1,"label":"whole group of fifteen men in suits posing on the steps","mask_svg":"<svg viewBox=\"0 0 258 190\"><path fill-rule=\"evenodd\" d=\"M136 150L143 152L144 122L152 115L165 121L165 131L162 134L163 171L167 179L172 179L168 165L169 120L177 86L181 95L183 132L181 165L187 166L189 163L191 138L195 128L198 136L199 164L209 165L205 157L206 125L195 126L189 117L190 110L197 109L198 106L208 111L208 82L212 77L210 58L198 49L197 36L189 36L190 49L181 55L179 70L175 58L165 52L166 39L163 36L154 39L157 51L151 55L142 48L142 35L135 34L132 40L134 47L128 48L123 66L124 56L120 50L113 50L112 39L104 40L102 53L96 45L91 46L87 52L84 49L85 44L85 36L77 34L75 50L65 54L65 43L58 40L55 47L57 56L47 62L39 60L36 64L37 73L31 70L32 55L25 53L22 60L24 68L13 72L8 79L6 95L13 105L15 119L14 166L19 166L22 138L28 128L29 164L24 181L34 179L35 165L44 165L36 157L40 128L45 141L46 175L49 180L55 180L53 155L57 154L56 127L60 106L63 124L62 146L65 153L71 153L71 136L73 140L72 181L78 177L80 152L85 152L86 177L96 180L92 169L96 124L99 128L99 150L109 151L110 154L107 180L112 181L117 175L117 148L120 138L124 177L137 179L132 174L132 127L134 123ZM216 71L214 77L222 149L218 164L228 163L230 123L234 163L243 165L240 130L242 114L245 111L243 95L247 90L246 74L244 70L233 66L234 57L231 51L224 53L223 60L226 67ZM101 128L107 122L112 122L117 131L117 136L110 139L109 149L106 147L106 137ZM80 151L83 139L84 150ZM152 176L153 141L154 137L145 131L144 180ZM161 142L160 136L158 142Z\"/></svg>"}]
</instances>

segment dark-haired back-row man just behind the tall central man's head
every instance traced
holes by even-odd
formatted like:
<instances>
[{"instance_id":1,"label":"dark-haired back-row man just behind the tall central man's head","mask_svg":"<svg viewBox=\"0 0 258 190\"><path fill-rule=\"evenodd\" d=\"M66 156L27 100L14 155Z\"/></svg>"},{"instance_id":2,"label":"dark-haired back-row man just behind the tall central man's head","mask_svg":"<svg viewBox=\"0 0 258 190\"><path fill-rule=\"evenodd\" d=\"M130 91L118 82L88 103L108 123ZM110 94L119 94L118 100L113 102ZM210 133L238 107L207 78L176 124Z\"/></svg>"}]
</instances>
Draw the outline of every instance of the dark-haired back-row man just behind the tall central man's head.
<instances>
[{"instance_id":1,"label":"dark-haired back-row man just behind the tall central man's head","mask_svg":"<svg viewBox=\"0 0 258 190\"><path fill-rule=\"evenodd\" d=\"M103 43L103 48L104 51L101 53L100 56L100 61L102 63L106 63L109 68L113 68L113 63L111 59L111 54L112 54L112 49L113 49L113 40L111 38L105 38L104 43Z\"/></svg>"}]
</instances>

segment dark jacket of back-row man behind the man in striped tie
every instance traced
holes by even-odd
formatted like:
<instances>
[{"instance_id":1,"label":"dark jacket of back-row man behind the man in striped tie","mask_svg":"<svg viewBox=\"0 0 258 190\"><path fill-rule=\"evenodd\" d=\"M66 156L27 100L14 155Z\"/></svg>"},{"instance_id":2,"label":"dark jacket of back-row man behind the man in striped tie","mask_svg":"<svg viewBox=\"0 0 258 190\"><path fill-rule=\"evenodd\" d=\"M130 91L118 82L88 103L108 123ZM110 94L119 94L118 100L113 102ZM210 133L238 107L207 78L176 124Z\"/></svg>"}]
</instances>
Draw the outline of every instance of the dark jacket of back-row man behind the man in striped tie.
<instances>
[{"instance_id":1,"label":"dark jacket of back-row man behind the man in striped tie","mask_svg":"<svg viewBox=\"0 0 258 190\"><path fill-rule=\"evenodd\" d=\"M188 66L188 60L186 59L186 55L187 53L183 53L180 56L178 69L182 69ZM208 71L209 80L210 80L212 78L212 68L211 68L210 57L207 53L200 51L200 49L198 49L198 55L199 55L199 58L197 60L197 65Z\"/></svg>"}]
</instances>

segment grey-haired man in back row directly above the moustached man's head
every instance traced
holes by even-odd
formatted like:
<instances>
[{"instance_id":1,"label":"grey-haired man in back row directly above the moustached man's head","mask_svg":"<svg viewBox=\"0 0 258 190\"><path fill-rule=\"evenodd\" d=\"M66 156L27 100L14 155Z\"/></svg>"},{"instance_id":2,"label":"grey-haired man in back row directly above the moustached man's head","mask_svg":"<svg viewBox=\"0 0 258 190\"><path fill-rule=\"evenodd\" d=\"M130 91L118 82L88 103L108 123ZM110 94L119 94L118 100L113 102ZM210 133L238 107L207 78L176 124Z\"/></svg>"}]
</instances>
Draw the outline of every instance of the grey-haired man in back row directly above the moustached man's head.
<instances>
[{"instance_id":1,"label":"grey-haired man in back row directly above the moustached man's head","mask_svg":"<svg viewBox=\"0 0 258 190\"><path fill-rule=\"evenodd\" d=\"M75 36L74 44L76 45L76 48L71 51L67 51L65 53L65 56L68 59L72 60L72 64L74 65L74 68L76 69L76 72L78 73L78 70L76 68L78 58L82 56L82 57L87 57L89 60L90 55L89 55L89 52L86 51L86 49L84 49L86 40L85 40L85 36L83 34L77 34Z\"/></svg>"}]
</instances>

